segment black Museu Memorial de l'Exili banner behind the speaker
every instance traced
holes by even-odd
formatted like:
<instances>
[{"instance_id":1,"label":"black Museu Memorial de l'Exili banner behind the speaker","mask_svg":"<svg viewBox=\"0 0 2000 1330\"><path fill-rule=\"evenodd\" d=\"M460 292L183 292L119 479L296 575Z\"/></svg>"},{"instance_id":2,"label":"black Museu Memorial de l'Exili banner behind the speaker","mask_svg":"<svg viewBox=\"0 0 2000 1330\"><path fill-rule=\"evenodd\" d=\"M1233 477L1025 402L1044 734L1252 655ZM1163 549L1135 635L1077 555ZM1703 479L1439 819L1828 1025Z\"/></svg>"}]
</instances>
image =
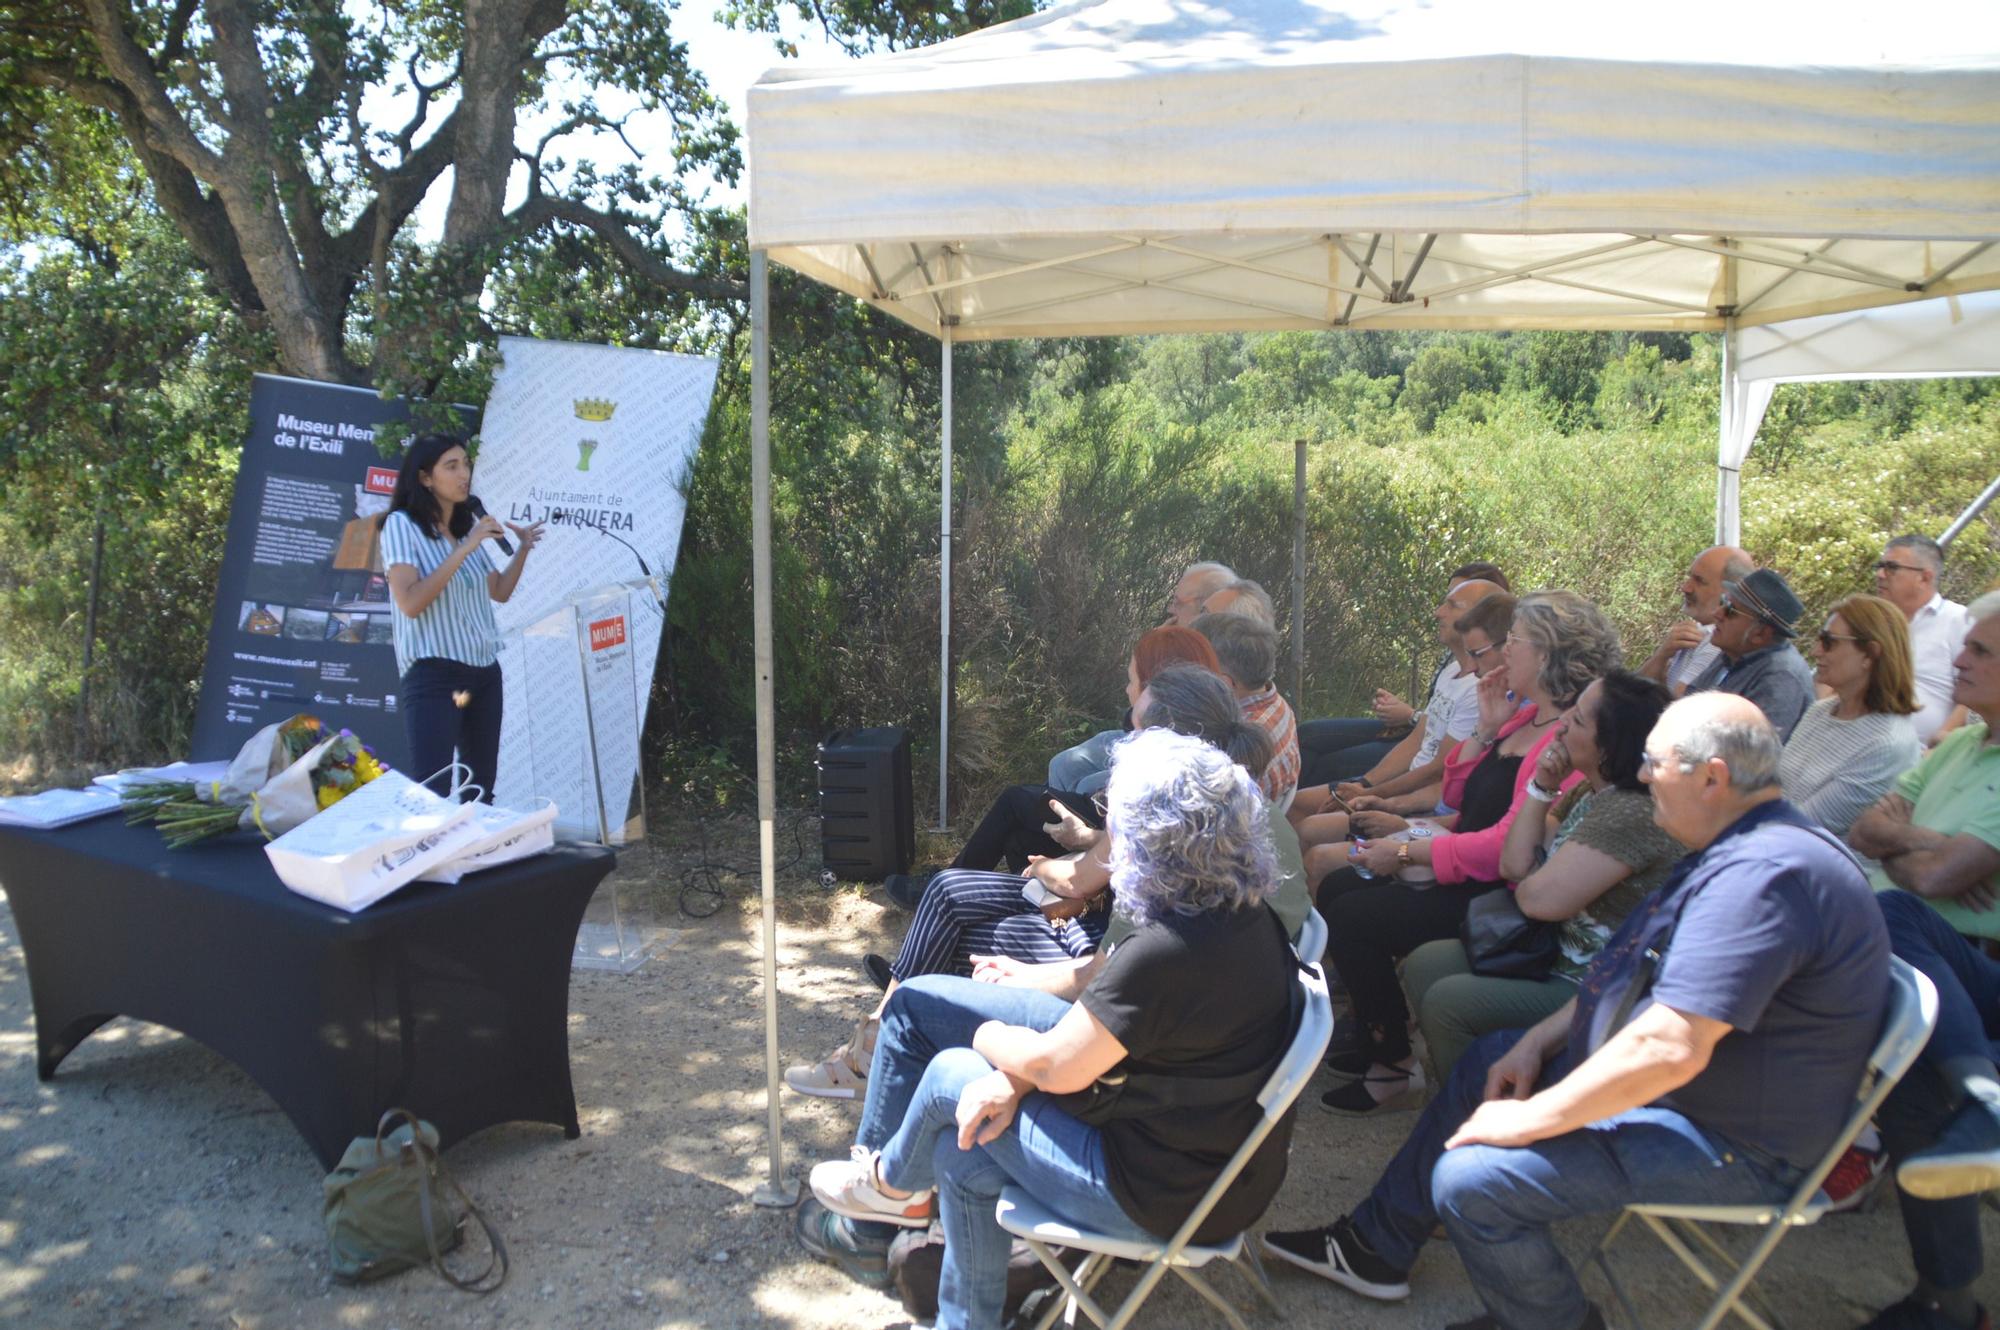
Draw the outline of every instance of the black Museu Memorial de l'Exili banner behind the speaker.
<instances>
[{"instance_id":1,"label":"black Museu Memorial de l'Exili banner behind the speaker","mask_svg":"<svg viewBox=\"0 0 2000 1330\"><path fill-rule=\"evenodd\" d=\"M376 426L408 416L370 388L258 374L208 630L194 760L312 712L406 766L380 516L396 462Z\"/></svg>"}]
</instances>

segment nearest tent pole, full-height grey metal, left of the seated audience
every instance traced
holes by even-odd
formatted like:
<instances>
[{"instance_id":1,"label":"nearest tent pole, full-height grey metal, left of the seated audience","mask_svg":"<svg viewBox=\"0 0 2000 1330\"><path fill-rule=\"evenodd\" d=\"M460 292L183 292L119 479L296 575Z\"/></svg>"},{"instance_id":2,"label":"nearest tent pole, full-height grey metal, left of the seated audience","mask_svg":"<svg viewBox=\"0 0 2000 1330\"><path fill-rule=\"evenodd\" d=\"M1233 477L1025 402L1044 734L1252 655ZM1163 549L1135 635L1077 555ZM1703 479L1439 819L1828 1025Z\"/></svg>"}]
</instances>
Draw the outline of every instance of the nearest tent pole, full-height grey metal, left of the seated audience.
<instances>
[{"instance_id":1,"label":"nearest tent pole, full-height grey metal, left of the seated audience","mask_svg":"<svg viewBox=\"0 0 2000 1330\"><path fill-rule=\"evenodd\" d=\"M764 884L764 1108L770 1172L752 1192L760 1206L798 1202L784 1176L778 1112L778 716L770 632L770 268L750 250L750 618L756 636L756 840Z\"/></svg>"}]
</instances>

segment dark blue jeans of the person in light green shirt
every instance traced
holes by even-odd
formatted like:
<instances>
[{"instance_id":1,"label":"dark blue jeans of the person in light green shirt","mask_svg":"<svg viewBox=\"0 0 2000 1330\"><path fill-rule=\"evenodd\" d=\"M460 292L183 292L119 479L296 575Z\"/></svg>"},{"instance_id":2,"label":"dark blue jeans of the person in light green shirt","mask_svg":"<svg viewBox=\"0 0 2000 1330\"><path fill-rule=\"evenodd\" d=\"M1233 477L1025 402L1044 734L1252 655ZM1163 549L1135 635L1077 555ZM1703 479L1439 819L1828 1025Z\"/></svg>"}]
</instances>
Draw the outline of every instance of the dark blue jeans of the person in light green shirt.
<instances>
[{"instance_id":1,"label":"dark blue jeans of the person in light green shirt","mask_svg":"<svg viewBox=\"0 0 2000 1330\"><path fill-rule=\"evenodd\" d=\"M1938 1026L1924 1056L1888 1092L1876 1114L1882 1146L1898 1164L1936 1144L1958 1112L1958 1088L1940 1064L1994 1060L2000 1044L2000 962L1958 936L1920 896L1876 892L1890 950L1938 986ZM1980 1278L1980 1198L1918 1200L1896 1190L1902 1232L1916 1272L1936 1288L1964 1288Z\"/></svg>"}]
</instances>

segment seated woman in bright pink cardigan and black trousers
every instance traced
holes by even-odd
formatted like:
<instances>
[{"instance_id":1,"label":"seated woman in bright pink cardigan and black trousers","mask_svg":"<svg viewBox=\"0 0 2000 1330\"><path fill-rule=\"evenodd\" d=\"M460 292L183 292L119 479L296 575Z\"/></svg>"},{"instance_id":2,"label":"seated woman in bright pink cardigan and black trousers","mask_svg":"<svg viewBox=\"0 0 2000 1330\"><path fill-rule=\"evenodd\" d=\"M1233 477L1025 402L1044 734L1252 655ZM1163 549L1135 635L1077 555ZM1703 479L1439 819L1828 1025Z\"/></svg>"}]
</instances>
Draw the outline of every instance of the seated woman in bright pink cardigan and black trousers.
<instances>
[{"instance_id":1,"label":"seated woman in bright pink cardigan and black trousers","mask_svg":"<svg viewBox=\"0 0 2000 1330\"><path fill-rule=\"evenodd\" d=\"M1356 1022L1350 1038L1336 1036L1328 1050L1328 1066L1344 1078L1320 1096L1328 1112L1366 1116L1416 1106L1410 1008L1396 962L1424 942L1456 938L1472 898L1500 886L1500 850L1528 802L1534 764L1554 742L1564 708L1590 680L1618 668L1618 630L1576 592L1528 592L1514 608L1502 656L1506 670L1480 680L1478 728L1446 758L1444 802L1458 808L1456 818L1436 822L1434 836L1392 840L1410 824L1384 812L1356 814L1374 840L1354 842L1354 866L1320 884L1326 954L1348 988ZM1518 710L1508 688L1526 702ZM1534 808L1540 818L1542 806Z\"/></svg>"}]
</instances>

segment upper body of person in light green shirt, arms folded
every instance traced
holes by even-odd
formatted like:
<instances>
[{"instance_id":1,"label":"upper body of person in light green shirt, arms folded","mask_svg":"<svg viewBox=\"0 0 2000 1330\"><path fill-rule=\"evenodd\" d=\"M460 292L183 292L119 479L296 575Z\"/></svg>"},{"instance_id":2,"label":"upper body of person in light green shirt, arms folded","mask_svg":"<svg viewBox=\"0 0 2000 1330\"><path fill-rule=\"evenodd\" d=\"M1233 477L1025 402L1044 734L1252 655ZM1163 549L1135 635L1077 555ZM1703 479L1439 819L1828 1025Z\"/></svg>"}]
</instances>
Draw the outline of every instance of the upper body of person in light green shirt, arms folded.
<instances>
[{"instance_id":1,"label":"upper body of person in light green shirt, arms folded","mask_svg":"<svg viewBox=\"0 0 2000 1330\"><path fill-rule=\"evenodd\" d=\"M1854 818L1848 844L1876 860L1878 892L1902 888L1958 932L2000 938L2000 592L1966 606L1966 618L1952 698L1972 720Z\"/></svg>"}]
</instances>

